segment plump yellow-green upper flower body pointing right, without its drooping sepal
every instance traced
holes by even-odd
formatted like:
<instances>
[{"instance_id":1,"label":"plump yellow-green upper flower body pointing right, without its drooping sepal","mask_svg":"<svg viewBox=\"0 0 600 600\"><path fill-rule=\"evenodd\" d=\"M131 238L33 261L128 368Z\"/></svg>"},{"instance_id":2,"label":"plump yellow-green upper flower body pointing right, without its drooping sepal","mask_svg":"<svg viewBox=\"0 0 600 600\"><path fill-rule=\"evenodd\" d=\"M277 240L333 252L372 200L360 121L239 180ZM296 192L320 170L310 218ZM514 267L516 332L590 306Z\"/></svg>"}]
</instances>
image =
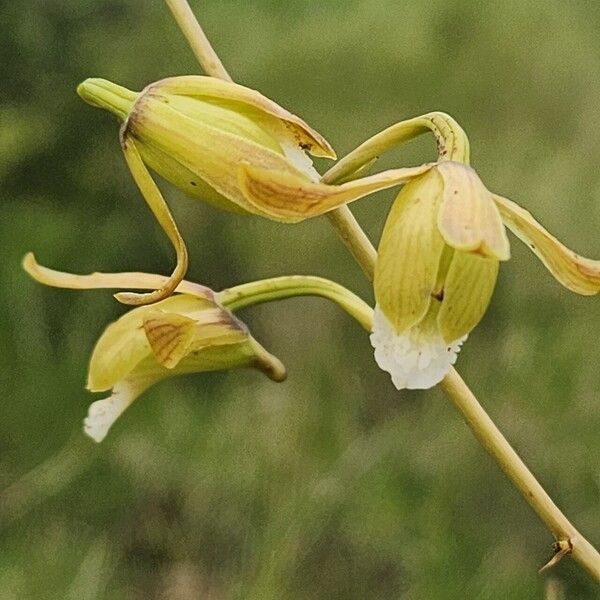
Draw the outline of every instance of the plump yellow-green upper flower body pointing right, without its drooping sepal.
<instances>
[{"instance_id":1,"label":"plump yellow-green upper flower body pointing right, without its drooping sepal","mask_svg":"<svg viewBox=\"0 0 600 600\"><path fill-rule=\"evenodd\" d=\"M218 208L260 212L238 183L249 164L317 181L305 151L335 158L302 119L259 92L213 77L162 79L136 94L104 79L87 79L79 95L123 121L144 162L192 197Z\"/></svg>"}]
</instances>

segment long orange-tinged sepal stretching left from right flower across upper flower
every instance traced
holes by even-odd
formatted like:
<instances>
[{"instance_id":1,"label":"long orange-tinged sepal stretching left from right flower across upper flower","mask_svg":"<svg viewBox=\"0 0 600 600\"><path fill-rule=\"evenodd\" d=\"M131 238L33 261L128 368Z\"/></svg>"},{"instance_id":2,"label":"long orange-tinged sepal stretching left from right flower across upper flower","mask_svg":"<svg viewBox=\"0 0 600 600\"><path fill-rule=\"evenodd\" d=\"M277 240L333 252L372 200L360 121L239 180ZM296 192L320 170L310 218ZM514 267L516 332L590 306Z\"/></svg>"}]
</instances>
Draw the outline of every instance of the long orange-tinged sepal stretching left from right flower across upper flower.
<instances>
[{"instance_id":1,"label":"long orange-tinged sepal stretching left from right flower across upper flower","mask_svg":"<svg viewBox=\"0 0 600 600\"><path fill-rule=\"evenodd\" d=\"M242 166L239 183L248 202L265 216L294 223L322 215L372 192L406 183L430 168L431 165L421 165L392 169L342 185L326 185L289 172Z\"/></svg>"}]
</instances>

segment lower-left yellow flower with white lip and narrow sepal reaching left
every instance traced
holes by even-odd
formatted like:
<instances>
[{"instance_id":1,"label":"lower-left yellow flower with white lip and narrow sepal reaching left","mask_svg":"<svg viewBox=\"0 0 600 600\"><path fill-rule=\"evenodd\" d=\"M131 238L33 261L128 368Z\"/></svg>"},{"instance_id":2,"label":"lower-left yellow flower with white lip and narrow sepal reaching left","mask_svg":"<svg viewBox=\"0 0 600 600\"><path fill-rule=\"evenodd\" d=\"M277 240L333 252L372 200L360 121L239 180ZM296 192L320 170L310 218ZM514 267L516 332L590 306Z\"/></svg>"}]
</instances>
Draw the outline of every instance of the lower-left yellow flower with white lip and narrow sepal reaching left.
<instances>
[{"instance_id":1,"label":"lower-left yellow flower with white lip and narrow sepal reaching left","mask_svg":"<svg viewBox=\"0 0 600 600\"><path fill-rule=\"evenodd\" d=\"M36 281L53 287L154 289L164 277L147 273L72 275L38 265L28 254L23 266ZM151 385L175 375L254 367L274 381L285 367L267 352L209 288L183 281L180 292L151 306L131 309L100 336L90 360L87 389L111 392L89 408L85 432L104 439L125 409Z\"/></svg>"}]
</instances>

